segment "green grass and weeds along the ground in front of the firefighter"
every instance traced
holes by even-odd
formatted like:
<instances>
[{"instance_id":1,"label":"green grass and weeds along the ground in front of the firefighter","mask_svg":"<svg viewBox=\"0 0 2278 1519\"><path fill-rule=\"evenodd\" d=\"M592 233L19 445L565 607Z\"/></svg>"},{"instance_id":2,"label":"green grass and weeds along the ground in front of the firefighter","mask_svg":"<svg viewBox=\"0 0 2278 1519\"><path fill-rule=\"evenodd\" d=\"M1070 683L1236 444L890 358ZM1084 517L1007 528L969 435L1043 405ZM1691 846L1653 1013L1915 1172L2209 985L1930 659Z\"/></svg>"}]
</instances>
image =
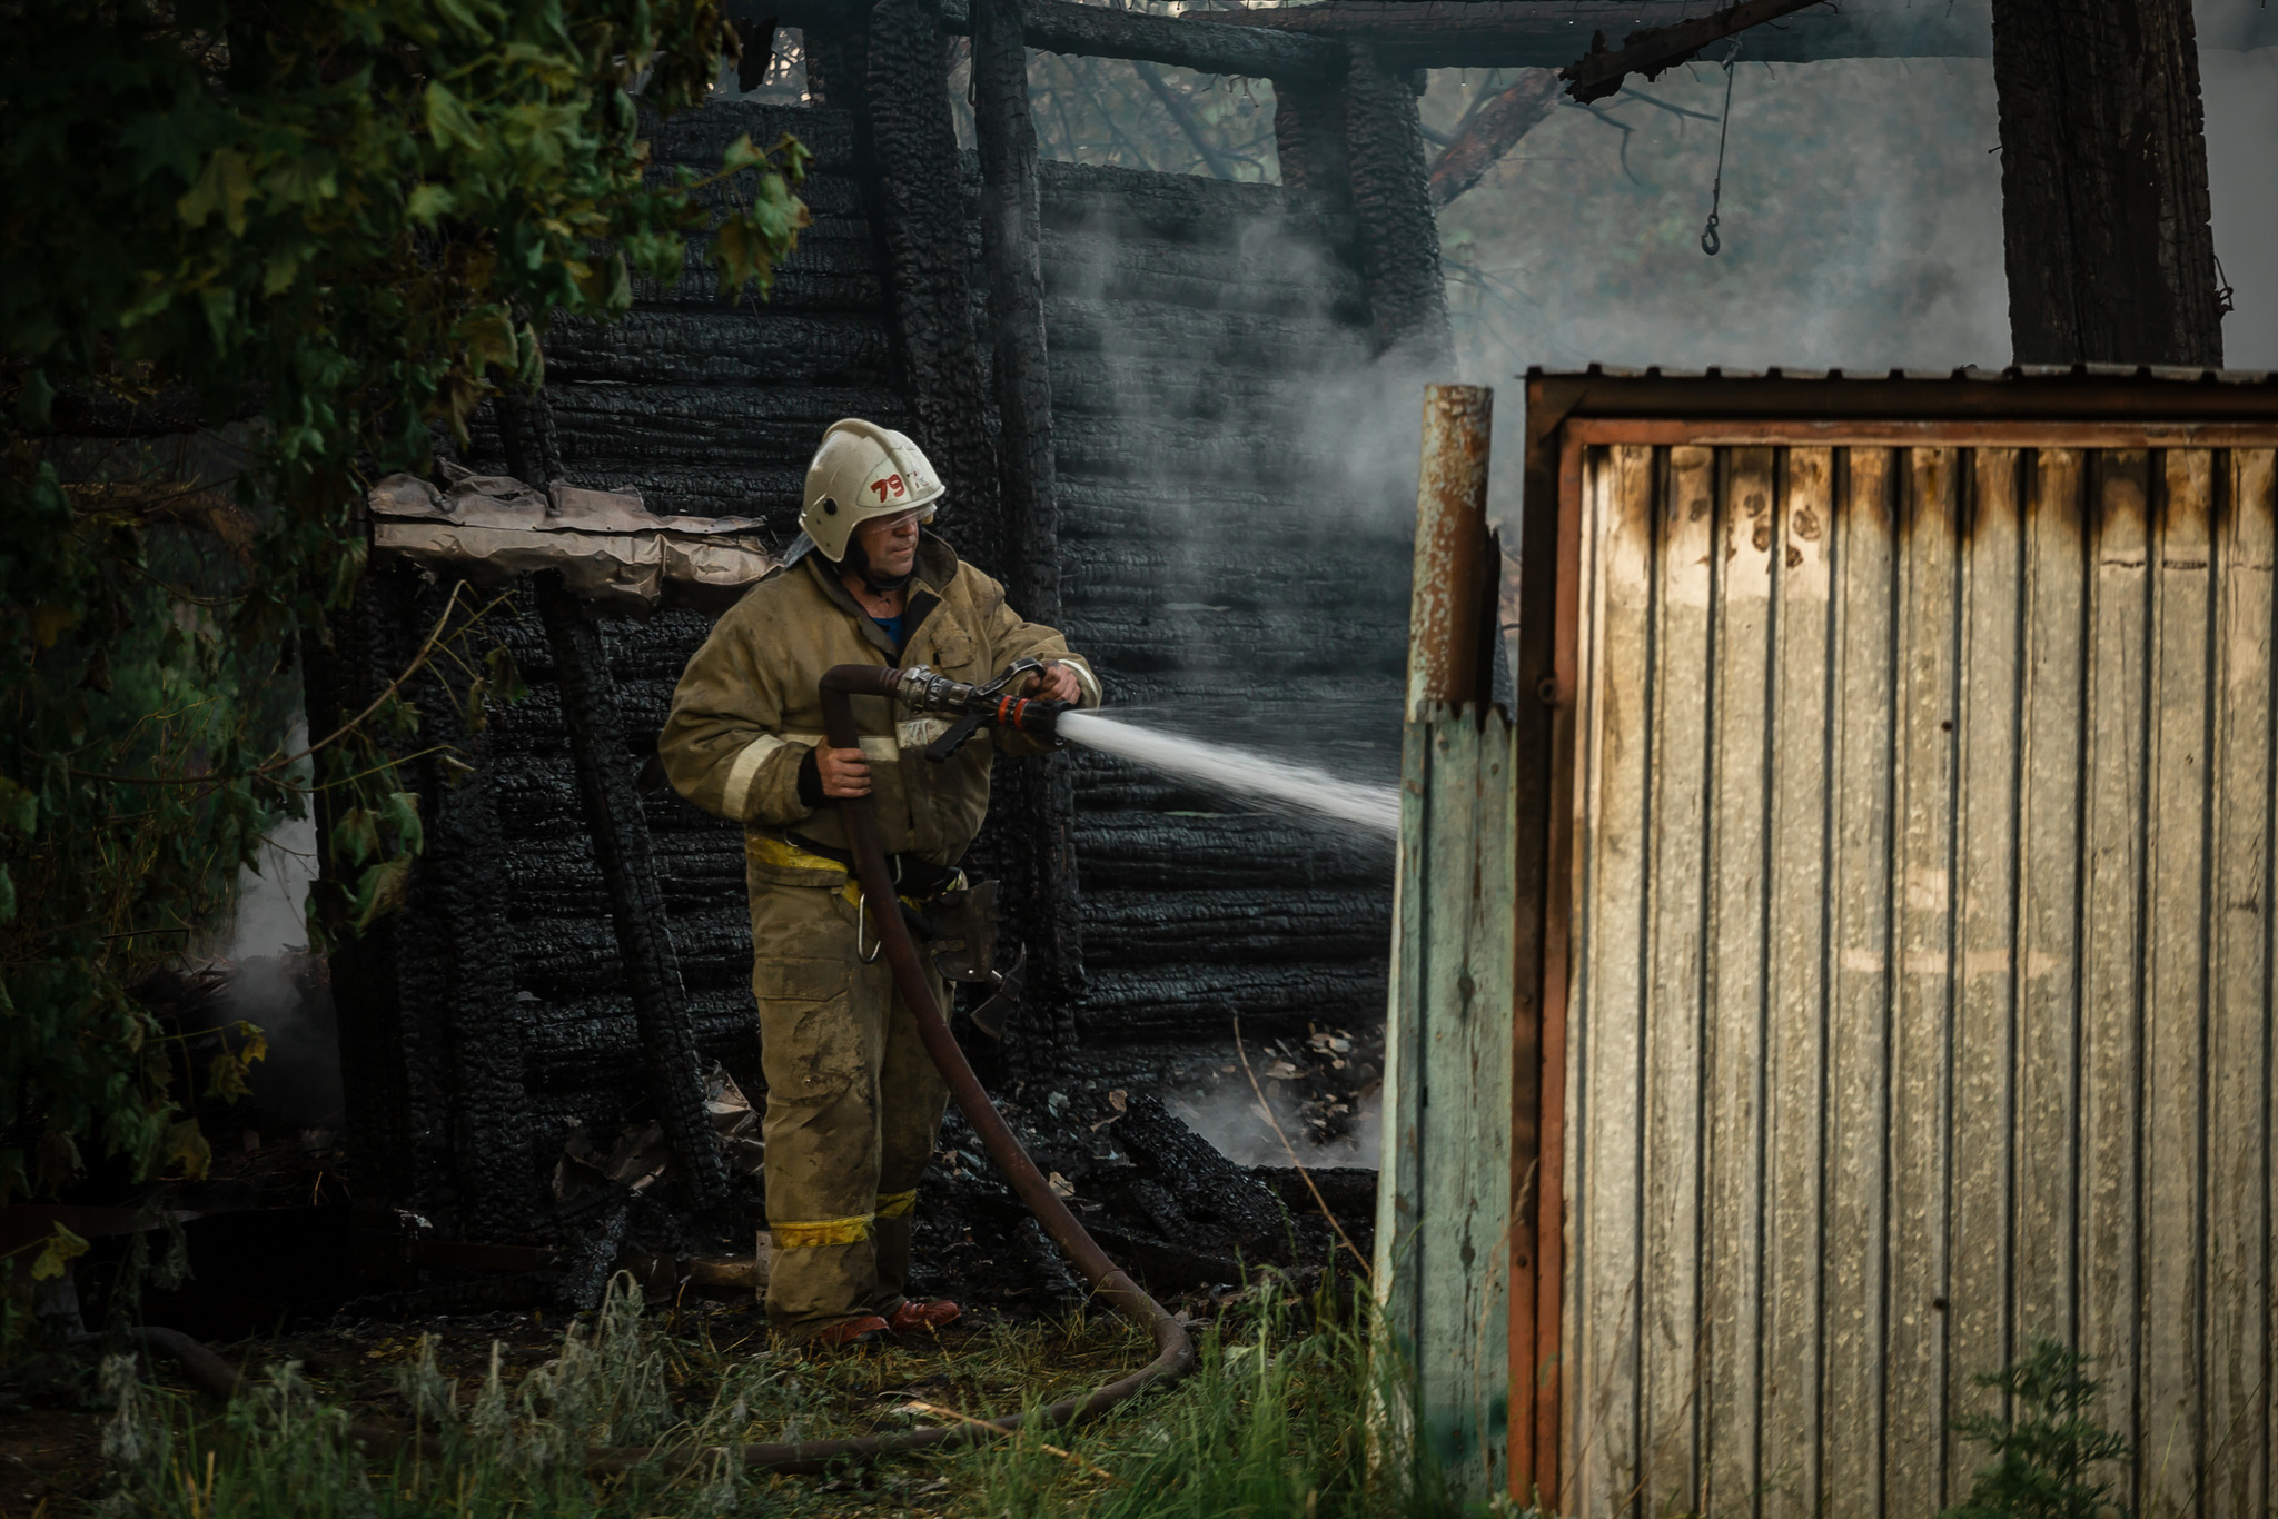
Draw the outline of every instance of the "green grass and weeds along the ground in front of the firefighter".
<instances>
[{"instance_id":1,"label":"green grass and weeds along the ground in front of the firefighter","mask_svg":"<svg viewBox=\"0 0 2278 1519\"><path fill-rule=\"evenodd\" d=\"M729 1460L663 1462L590 1480L590 1444L667 1451L818 1439L939 1421L913 1401L970 1414L1041 1405L1148 1360L1107 1316L995 1323L884 1355L809 1360L759 1339L667 1332L638 1294L519 1369L403 1346L380 1414L435 1437L440 1460L367 1460L351 1412L296 1364L267 1366L226 1412L105 1366L107 1496L96 1512L162 1519L681 1519L715 1514L957 1514L1025 1519L1426 1519L1451 1514L1431 1473L1385 1430L1401 1380L1330 1300L1257 1287L1198 1328L1201 1364L1075 1430L1034 1430L961 1451L825 1476L747 1473ZM526 1357L519 1357L526 1362ZM456 1376L453 1376L456 1366Z\"/></svg>"}]
</instances>

